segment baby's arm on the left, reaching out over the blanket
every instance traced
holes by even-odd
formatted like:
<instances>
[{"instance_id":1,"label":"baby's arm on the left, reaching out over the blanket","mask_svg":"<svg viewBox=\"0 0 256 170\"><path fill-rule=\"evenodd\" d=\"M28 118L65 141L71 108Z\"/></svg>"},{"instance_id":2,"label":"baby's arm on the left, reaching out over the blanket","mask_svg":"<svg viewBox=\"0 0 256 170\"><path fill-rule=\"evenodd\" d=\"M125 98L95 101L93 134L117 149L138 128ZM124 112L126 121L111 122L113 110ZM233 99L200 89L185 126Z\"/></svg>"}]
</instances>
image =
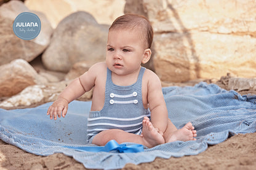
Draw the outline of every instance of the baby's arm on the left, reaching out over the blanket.
<instances>
[{"instance_id":1,"label":"baby's arm on the left, reaching out over the blanket","mask_svg":"<svg viewBox=\"0 0 256 170\"><path fill-rule=\"evenodd\" d=\"M60 93L58 99L47 110L47 115L50 115L50 119L54 118L54 120L57 120L57 116L60 118L61 115L65 117L68 111L68 104L94 87L97 75L95 69L97 69L97 67L97 64L92 66L89 71L74 79L68 87Z\"/></svg>"}]
</instances>

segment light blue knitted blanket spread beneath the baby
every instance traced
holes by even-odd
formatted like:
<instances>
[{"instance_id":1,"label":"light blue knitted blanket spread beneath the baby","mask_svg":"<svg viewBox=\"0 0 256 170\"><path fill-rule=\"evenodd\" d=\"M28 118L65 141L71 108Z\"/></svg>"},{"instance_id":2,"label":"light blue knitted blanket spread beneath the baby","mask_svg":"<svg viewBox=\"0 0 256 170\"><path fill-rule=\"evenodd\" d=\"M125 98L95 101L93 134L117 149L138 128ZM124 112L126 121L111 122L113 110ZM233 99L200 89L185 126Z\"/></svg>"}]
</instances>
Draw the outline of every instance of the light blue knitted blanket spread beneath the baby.
<instances>
[{"instance_id":1,"label":"light blue knitted blanket spread beneath the baby","mask_svg":"<svg viewBox=\"0 0 256 170\"><path fill-rule=\"evenodd\" d=\"M198 132L197 141L145 147L144 152L138 153L81 152L63 147L95 146L86 143L91 102L82 101L71 102L66 117L56 121L46 115L51 102L28 109L0 109L0 139L36 155L73 156L86 168L118 169L126 163L151 162L156 157L197 155L209 144L218 144L237 133L256 131L256 95L241 96L203 82L194 87L166 87L162 91L170 120L177 128L193 123Z\"/></svg>"}]
</instances>

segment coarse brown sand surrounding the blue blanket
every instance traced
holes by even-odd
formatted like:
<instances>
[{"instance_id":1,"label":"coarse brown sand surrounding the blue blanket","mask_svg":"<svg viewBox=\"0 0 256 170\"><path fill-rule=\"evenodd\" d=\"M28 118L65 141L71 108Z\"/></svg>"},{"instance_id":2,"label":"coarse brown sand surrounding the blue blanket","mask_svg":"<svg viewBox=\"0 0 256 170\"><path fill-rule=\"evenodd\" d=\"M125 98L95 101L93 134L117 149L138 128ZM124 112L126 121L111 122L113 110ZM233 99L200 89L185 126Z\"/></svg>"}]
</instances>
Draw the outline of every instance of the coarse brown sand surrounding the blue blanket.
<instances>
[{"instance_id":1,"label":"coarse brown sand surrounding the blue blanket","mask_svg":"<svg viewBox=\"0 0 256 170\"><path fill-rule=\"evenodd\" d=\"M226 88L223 81L215 82ZM241 95L256 91L241 91ZM55 153L38 156L0 140L0 169L86 169L73 158ZM126 164L123 169L256 169L256 133L238 134L205 152L181 158L156 158L151 163Z\"/></svg>"}]
</instances>

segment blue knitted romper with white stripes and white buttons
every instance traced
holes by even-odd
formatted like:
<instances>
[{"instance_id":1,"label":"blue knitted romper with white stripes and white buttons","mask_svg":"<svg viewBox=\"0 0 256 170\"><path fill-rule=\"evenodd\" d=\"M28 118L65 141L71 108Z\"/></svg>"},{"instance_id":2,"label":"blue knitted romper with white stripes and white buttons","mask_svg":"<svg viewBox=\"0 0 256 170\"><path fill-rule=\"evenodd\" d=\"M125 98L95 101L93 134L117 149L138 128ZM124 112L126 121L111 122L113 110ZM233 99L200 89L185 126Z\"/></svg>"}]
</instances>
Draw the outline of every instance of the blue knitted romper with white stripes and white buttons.
<instances>
[{"instance_id":1,"label":"blue knitted romper with white stripes and white buttons","mask_svg":"<svg viewBox=\"0 0 256 170\"><path fill-rule=\"evenodd\" d=\"M105 102L100 111L90 111L87 124L87 142L92 143L94 136L107 129L141 134L143 118L150 117L150 109L142 103L142 77L145 68L140 69L137 82L129 86L115 85L111 71L107 68Z\"/></svg>"}]
</instances>

